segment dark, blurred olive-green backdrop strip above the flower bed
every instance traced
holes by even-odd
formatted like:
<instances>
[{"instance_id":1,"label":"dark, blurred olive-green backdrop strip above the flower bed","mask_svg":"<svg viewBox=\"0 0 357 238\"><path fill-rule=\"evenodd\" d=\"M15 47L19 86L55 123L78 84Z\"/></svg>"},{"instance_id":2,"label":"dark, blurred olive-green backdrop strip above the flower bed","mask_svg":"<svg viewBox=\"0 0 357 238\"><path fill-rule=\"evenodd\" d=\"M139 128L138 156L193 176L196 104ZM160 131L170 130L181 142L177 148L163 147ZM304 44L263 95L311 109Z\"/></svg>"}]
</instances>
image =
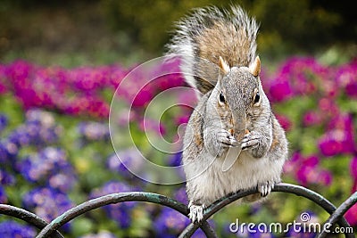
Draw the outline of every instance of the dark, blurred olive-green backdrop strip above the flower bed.
<instances>
[{"instance_id":1,"label":"dark, blurred olive-green backdrop strip above the flower bed","mask_svg":"<svg viewBox=\"0 0 357 238\"><path fill-rule=\"evenodd\" d=\"M44 64L145 62L162 55L172 22L192 8L232 1L3 0L0 60ZM356 18L350 1L235 1L261 22L262 57L277 62L292 53L356 53ZM340 56L341 57L341 56ZM340 58L337 57L337 58Z\"/></svg>"}]
</instances>

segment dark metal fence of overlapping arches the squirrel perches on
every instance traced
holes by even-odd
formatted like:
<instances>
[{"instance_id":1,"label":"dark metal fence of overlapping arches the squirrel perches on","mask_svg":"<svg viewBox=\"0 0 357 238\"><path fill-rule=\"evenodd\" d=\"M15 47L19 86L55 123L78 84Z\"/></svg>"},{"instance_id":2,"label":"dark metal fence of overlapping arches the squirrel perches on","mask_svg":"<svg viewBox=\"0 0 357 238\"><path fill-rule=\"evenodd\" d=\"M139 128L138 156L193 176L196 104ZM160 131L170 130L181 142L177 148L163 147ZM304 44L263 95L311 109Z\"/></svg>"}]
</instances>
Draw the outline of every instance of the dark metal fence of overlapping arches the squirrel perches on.
<instances>
[{"instance_id":1,"label":"dark metal fence of overlapping arches the squirrel perches on","mask_svg":"<svg viewBox=\"0 0 357 238\"><path fill-rule=\"evenodd\" d=\"M344 214L350 209L353 204L357 203L357 192L353 193L347 200L345 200L338 208L326 198L321 196L319 193L315 193L310 189L307 189L299 185L290 185L290 184L278 184L275 185L272 192L281 192L281 193L293 193L297 196L302 196L310 201L313 201L319 205L322 209L325 209L330 216L326 220L325 224L330 224L335 226L336 224L340 227L345 227L345 237L354 237L354 234L348 233L346 231L347 227L351 227L348 222L345 220ZM215 234L212 226L206 221L207 218L212 217L213 214L220 211L228 204L233 201L237 201L245 196L251 195L253 193L258 193L257 189L251 189L246 191L238 191L237 193L230 193L227 196L221 198L218 201L213 202L203 214L203 221L200 224L189 224L181 234L178 234L179 237L191 237L199 227L203 230L203 233L207 237L218 237ZM32 226L40 229L37 238L44 237L55 237L62 238L62 234L58 229L64 224L70 222L72 219L79 217L80 215L93 210L104 207L105 205L125 202L125 201L146 201L151 203L160 204L171 209L177 210L179 213L188 216L189 210L187 206L179 201L173 200L169 197L166 197L157 193L144 193L144 192L130 192L130 193L112 193L107 194L93 200L85 201L78 206L65 211L61 216L54 218L53 221L47 223L43 218L38 217L36 214L29 212L25 209L20 209L8 204L0 204L0 214L4 214L11 217L19 218ZM327 231L323 230L317 237L326 237Z\"/></svg>"}]
</instances>

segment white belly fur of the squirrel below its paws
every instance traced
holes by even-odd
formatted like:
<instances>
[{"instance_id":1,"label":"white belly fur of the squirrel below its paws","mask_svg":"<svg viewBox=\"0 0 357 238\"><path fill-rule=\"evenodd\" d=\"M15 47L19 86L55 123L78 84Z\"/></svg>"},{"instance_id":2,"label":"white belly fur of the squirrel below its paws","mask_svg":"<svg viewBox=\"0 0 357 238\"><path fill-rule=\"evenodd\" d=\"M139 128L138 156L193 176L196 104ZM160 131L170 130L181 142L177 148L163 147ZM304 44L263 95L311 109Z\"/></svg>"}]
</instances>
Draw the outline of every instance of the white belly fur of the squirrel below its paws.
<instances>
[{"instance_id":1,"label":"white belly fur of the squirrel below its paws","mask_svg":"<svg viewBox=\"0 0 357 238\"><path fill-rule=\"evenodd\" d=\"M201 198L205 204L212 203L228 193L249 189L260 183L278 182L284 164L284 160L270 160L268 157L256 159L248 152L241 152L233 166L224 172L224 159L215 159L208 165L208 162L204 164L204 157L202 156L200 161L197 158L185 168L185 172L187 178L194 177L187 181L188 188L195 190L195 197ZM208 168L202 171L205 167Z\"/></svg>"}]
</instances>

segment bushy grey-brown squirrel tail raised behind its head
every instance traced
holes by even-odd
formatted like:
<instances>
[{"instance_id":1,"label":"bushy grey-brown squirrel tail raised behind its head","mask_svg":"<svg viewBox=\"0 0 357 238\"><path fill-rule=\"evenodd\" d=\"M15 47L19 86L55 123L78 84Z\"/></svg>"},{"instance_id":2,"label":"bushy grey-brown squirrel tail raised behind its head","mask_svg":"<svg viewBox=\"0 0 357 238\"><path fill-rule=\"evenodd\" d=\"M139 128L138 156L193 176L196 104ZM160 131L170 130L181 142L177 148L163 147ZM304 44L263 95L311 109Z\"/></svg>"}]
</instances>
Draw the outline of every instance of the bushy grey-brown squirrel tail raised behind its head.
<instances>
[{"instance_id":1,"label":"bushy grey-brown squirrel tail raised behind its head","mask_svg":"<svg viewBox=\"0 0 357 238\"><path fill-rule=\"evenodd\" d=\"M190 86L206 94L216 85L221 56L230 67L255 59L258 25L239 6L195 9L179 21L167 55L181 57L180 69Z\"/></svg>"}]
</instances>

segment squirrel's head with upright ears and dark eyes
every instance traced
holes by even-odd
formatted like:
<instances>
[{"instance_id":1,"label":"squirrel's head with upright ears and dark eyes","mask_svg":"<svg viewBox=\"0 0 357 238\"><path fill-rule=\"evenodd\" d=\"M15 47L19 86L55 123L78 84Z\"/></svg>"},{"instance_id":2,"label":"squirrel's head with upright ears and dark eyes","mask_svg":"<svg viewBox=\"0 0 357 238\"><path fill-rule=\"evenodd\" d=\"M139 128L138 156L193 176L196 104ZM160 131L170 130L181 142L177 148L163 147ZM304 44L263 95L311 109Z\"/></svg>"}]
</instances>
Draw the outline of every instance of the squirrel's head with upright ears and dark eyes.
<instances>
[{"instance_id":1,"label":"squirrel's head with upright ears and dark eyes","mask_svg":"<svg viewBox=\"0 0 357 238\"><path fill-rule=\"evenodd\" d=\"M234 133L241 139L248 129L247 120L258 115L262 104L268 102L259 77L261 61L257 56L249 67L230 68L220 57L219 66L221 73L215 86L217 107L219 111L229 111Z\"/></svg>"}]
</instances>

